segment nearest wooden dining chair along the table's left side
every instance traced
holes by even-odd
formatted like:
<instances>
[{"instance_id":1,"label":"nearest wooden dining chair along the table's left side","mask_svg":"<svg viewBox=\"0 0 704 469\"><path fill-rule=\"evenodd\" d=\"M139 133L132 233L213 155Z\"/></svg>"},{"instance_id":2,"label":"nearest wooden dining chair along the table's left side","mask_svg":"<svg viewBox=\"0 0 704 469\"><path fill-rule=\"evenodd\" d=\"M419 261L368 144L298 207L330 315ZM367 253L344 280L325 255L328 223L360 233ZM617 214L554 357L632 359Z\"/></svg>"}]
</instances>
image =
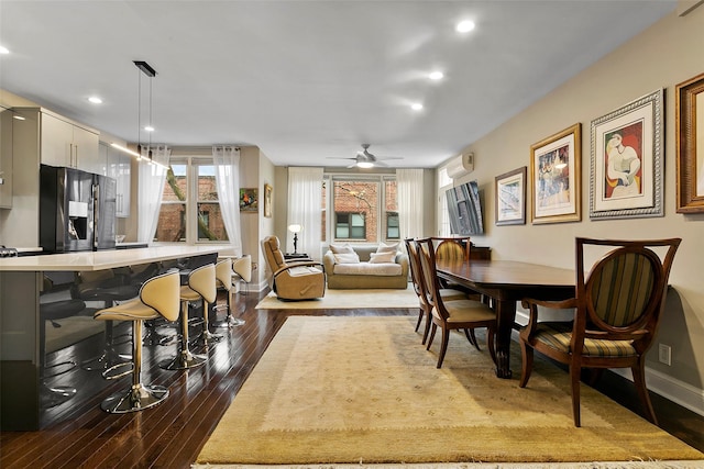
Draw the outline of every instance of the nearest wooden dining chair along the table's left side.
<instances>
[{"instance_id":1,"label":"nearest wooden dining chair along the table's left side","mask_svg":"<svg viewBox=\"0 0 704 469\"><path fill-rule=\"evenodd\" d=\"M417 239L420 265L426 286L428 302L432 304L431 320L432 326L428 345L430 349L438 327L442 331L442 344L438 356L438 368L442 367L442 361L450 340L450 331L464 330L468 340L472 343L470 330L486 327L486 343L492 360L496 364L496 353L494 349L494 338L496 335L496 313L487 304L475 300L444 300L440 293L440 282L436 270L436 256L432 238ZM479 349L476 340L474 346Z\"/></svg>"}]
</instances>

